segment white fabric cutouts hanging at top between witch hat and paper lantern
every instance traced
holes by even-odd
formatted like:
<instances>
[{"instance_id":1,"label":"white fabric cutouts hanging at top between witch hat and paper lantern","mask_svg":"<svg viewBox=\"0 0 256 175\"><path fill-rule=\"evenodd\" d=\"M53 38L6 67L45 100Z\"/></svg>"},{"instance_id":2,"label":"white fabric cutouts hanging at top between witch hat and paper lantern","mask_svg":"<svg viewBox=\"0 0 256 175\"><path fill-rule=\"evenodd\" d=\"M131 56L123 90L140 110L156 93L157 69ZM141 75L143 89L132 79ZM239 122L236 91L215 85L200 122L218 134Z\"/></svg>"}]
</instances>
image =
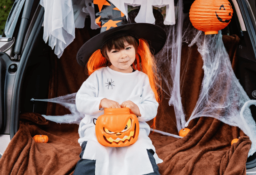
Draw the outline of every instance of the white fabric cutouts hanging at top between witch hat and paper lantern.
<instances>
[{"instance_id":1,"label":"white fabric cutouts hanging at top between witch hat and paper lantern","mask_svg":"<svg viewBox=\"0 0 256 175\"><path fill-rule=\"evenodd\" d=\"M165 25L175 24L174 14L174 0L109 0L112 2L123 14L128 17L128 5L133 7L140 6L139 13L135 18L136 23L155 23L153 15L153 6L161 8L166 6Z\"/></svg>"}]
</instances>

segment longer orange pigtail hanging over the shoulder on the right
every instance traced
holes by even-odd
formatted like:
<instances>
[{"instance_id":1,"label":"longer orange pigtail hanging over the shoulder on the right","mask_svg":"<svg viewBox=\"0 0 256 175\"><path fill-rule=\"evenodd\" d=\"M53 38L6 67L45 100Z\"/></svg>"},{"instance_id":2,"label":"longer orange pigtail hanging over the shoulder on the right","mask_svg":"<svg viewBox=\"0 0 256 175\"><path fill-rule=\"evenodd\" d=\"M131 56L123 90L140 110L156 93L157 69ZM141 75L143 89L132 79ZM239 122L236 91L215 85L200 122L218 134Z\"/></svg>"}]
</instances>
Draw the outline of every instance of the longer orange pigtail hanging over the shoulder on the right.
<instances>
[{"instance_id":1,"label":"longer orange pigtail hanging over the shoulder on the right","mask_svg":"<svg viewBox=\"0 0 256 175\"><path fill-rule=\"evenodd\" d=\"M155 94L155 99L160 102L160 94L158 85L160 85L160 78L157 73L157 66L155 63L154 56L151 54L149 50L149 45L144 39L139 39L139 47L137 49L137 54L141 58L141 67L142 72L146 73L149 77L149 83L153 93ZM139 64L137 64L137 68L139 68ZM161 87L161 85L159 86ZM155 129L155 120L153 120L153 129Z\"/></svg>"}]
</instances>

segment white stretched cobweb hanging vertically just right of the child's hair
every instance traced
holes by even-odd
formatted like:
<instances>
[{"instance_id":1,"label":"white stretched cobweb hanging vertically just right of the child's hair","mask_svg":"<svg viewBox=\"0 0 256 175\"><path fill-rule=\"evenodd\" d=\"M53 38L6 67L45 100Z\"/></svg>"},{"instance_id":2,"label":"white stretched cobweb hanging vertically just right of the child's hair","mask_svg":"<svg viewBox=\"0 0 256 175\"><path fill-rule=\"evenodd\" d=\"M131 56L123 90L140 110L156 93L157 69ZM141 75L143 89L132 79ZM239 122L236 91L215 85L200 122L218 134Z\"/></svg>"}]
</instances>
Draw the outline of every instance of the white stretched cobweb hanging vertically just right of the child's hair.
<instances>
[{"instance_id":1,"label":"white stretched cobweb hanging vertically just right of the child's hair","mask_svg":"<svg viewBox=\"0 0 256 175\"><path fill-rule=\"evenodd\" d=\"M183 28L183 1L178 1L175 16L176 25L169 26L167 41L164 48L156 55L161 79L166 84L165 93L169 96L169 105L174 107L176 126L178 131L185 125L185 114L181 103L180 71L181 71L181 46ZM171 59L169 59L171 57ZM168 66L166 66L168 65ZM166 69L167 68L167 69Z\"/></svg>"}]
</instances>

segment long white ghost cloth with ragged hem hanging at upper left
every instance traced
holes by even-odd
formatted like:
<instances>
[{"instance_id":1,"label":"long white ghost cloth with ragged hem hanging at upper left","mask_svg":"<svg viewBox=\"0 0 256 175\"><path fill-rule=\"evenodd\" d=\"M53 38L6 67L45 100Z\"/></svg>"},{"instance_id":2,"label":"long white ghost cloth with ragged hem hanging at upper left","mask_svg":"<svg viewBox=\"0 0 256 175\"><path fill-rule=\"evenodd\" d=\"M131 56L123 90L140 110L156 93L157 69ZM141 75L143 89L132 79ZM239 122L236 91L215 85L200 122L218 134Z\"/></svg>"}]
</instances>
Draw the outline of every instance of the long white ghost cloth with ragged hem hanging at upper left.
<instances>
[{"instance_id":1,"label":"long white ghost cloth with ragged hem hanging at upper left","mask_svg":"<svg viewBox=\"0 0 256 175\"><path fill-rule=\"evenodd\" d=\"M41 0L44 7L43 40L54 53L62 56L64 49L75 39L74 13L71 0Z\"/></svg>"}]
</instances>

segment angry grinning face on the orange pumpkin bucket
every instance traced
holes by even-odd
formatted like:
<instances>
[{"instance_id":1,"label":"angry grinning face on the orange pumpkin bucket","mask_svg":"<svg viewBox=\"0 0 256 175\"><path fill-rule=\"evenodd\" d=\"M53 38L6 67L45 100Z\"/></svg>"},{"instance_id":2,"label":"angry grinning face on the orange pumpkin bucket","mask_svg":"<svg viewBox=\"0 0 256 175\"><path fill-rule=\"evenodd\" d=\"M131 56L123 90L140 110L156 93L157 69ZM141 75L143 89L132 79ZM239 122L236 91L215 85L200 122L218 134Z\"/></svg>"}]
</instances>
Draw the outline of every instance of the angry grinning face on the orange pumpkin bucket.
<instances>
[{"instance_id":1,"label":"angry grinning face on the orange pumpkin bucket","mask_svg":"<svg viewBox=\"0 0 256 175\"><path fill-rule=\"evenodd\" d=\"M126 126L124 127L124 129L120 132L112 132L107 128L103 128L103 130L106 133L106 135L104 135L103 138L107 143L112 144L113 142L116 142L116 143L119 143L119 142L125 143L126 141L130 142L131 139L134 139L136 135L136 123L132 128L132 119L130 118Z\"/></svg>"}]
</instances>

